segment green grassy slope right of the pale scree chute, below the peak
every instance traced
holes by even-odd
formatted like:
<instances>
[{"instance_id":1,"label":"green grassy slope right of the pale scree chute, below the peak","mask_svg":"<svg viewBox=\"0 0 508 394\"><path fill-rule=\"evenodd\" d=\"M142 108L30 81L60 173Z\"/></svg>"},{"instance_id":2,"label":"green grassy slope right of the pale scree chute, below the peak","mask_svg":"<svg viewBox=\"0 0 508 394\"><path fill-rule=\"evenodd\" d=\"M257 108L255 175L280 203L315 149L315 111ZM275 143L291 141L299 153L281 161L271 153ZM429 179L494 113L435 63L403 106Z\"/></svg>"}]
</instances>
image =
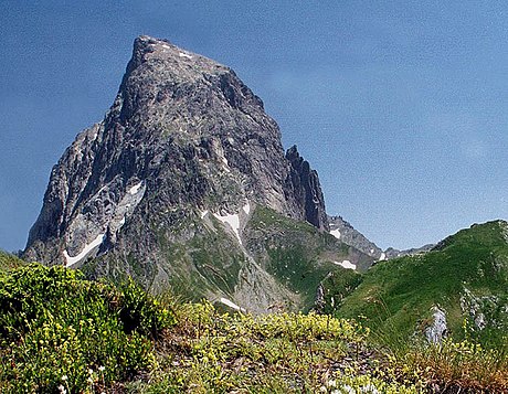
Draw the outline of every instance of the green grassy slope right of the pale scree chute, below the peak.
<instances>
[{"instance_id":1,"label":"green grassy slope right of the pale scree chute, below the peak","mask_svg":"<svg viewBox=\"0 0 508 394\"><path fill-rule=\"evenodd\" d=\"M322 280L334 276L350 281L350 276L356 276L334 262L348 259L360 266L372 263L369 256L332 235L263 206L254 211L245 237L251 255L281 284L301 297L301 310L314 307Z\"/></svg>"}]
</instances>

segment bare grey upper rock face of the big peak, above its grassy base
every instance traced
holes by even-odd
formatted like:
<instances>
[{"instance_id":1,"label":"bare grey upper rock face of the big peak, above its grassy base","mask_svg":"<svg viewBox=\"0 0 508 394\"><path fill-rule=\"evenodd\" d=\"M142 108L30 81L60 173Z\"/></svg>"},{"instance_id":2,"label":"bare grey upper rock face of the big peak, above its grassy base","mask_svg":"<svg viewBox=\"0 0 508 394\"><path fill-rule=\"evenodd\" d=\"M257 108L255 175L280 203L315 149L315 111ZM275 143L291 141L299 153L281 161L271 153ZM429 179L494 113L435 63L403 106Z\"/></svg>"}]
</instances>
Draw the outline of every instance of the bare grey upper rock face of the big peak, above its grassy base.
<instances>
[{"instance_id":1,"label":"bare grey upper rock face of the big peak, above its grassy base","mask_svg":"<svg viewBox=\"0 0 508 394\"><path fill-rule=\"evenodd\" d=\"M98 234L114 238L145 192L158 194L150 210L237 211L252 200L306 219L317 174L303 171L294 190L285 189L287 179L296 179L295 168L284 157L278 127L233 71L140 36L113 107L53 168L27 255L59 263L64 249L76 255ZM139 194L129 193L137 184ZM123 203L129 194L140 199Z\"/></svg>"}]
</instances>

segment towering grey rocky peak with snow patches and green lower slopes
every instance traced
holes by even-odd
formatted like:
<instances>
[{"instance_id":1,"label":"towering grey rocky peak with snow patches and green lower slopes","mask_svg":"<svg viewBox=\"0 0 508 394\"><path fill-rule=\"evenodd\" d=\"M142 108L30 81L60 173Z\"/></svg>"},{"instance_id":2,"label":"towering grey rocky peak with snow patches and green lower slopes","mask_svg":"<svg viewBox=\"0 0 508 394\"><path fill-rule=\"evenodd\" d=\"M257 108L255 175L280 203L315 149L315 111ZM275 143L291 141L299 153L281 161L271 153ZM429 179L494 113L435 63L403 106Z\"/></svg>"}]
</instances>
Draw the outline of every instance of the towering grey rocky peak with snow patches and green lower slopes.
<instances>
[{"instance_id":1,"label":"towering grey rocky peak with snow patches and green lower slopes","mask_svg":"<svg viewBox=\"0 0 508 394\"><path fill-rule=\"evenodd\" d=\"M24 257L255 312L301 309L341 262L373 259L328 231L317 172L284 151L236 74L139 36L113 106L54 166Z\"/></svg>"}]
</instances>

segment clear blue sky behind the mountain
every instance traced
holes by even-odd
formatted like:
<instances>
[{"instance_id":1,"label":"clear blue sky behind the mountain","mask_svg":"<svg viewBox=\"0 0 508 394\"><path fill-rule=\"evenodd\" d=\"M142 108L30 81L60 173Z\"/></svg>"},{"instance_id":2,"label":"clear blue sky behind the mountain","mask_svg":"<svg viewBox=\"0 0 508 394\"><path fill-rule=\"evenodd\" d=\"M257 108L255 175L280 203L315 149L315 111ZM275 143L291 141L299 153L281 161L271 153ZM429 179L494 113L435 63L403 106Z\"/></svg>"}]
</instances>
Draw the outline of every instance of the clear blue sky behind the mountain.
<instances>
[{"instance_id":1,"label":"clear blue sky behind the mountain","mask_svg":"<svg viewBox=\"0 0 508 394\"><path fill-rule=\"evenodd\" d=\"M23 248L50 171L99 121L137 35L231 66L330 214L381 247L508 219L504 1L0 1L0 248Z\"/></svg>"}]
</instances>

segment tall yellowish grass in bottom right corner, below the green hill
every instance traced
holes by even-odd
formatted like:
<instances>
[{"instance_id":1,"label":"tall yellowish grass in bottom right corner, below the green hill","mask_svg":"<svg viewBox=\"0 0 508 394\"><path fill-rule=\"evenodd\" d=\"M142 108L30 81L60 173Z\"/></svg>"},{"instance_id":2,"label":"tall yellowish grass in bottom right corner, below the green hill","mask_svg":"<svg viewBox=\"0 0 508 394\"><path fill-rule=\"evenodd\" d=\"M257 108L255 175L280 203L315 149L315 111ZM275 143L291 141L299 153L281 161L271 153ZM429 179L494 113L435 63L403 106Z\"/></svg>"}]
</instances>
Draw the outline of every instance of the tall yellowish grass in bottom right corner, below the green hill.
<instances>
[{"instance_id":1,"label":"tall yellowish grass in bottom right corner, below the green hill","mask_svg":"<svg viewBox=\"0 0 508 394\"><path fill-rule=\"evenodd\" d=\"M420 382L440 393L507 393L508 340L483 347L466 336L463 341L445 338L428 343L422 337L406 338L384 324L372 330L370 342L390 360L391 374L399 381Z\"/></svg>"}]
</instances>

